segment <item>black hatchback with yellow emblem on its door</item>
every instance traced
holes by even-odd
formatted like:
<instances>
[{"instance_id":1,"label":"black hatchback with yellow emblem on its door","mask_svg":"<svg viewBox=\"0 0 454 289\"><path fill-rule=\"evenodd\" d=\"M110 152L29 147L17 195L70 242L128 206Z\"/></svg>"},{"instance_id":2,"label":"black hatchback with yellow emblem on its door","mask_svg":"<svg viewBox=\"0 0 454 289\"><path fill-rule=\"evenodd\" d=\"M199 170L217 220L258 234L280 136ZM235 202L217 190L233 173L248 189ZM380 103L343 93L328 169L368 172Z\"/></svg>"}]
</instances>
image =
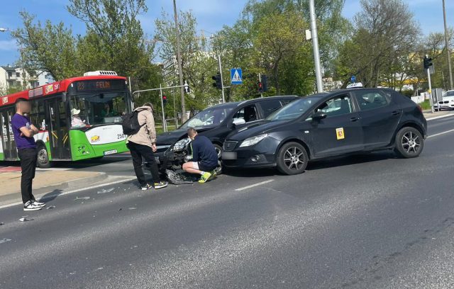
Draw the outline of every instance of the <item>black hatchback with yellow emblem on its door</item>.
<instances>
[{"instance_id":1,"label":"black hatchback with yellow emblem on its door","mask_svg":"<svg viewBox=\"0 0 454 289\"><path fill-rule=\"evenodd\" d=\"M309 160L394 149L405 158L423 150L421 108L392 89L346 89L306 96L260 125L233 132L223 145L226 167L277 166L301 174Z\"/></svg>"}]
</instances>

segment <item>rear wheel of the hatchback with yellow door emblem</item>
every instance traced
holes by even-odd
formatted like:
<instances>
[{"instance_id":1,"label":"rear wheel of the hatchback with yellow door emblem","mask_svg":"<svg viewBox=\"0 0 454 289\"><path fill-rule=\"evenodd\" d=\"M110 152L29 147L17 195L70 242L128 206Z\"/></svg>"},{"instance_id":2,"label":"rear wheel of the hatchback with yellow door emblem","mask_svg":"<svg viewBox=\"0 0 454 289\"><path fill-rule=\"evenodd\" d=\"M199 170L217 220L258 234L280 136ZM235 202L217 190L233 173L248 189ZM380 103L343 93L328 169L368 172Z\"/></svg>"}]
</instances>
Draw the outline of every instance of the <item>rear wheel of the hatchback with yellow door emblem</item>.
<instances>
[{"instance_id":1,"label":"rear wheel of the hatchback with yellow door emblem","mask_svg":"<svg viewBox=\"0 0 454 289\"><path fill-rule=\"evenodd\" d=\"M423 151L424 139L416 128L405 127L397 132L394 149L400 157L411 159L419 157Z\"/></svg>"}]
</instances>

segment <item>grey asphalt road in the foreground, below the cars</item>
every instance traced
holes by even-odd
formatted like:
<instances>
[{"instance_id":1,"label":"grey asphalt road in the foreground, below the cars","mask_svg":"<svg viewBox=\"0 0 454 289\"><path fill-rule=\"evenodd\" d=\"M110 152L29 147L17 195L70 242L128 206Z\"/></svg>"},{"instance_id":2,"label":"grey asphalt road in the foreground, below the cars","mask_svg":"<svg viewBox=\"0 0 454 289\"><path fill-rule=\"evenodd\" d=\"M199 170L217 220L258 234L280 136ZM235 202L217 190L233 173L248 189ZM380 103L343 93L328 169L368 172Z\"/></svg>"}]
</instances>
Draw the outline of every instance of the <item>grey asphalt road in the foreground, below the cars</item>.
<instances>
[{"instance_id":1,"label":"grey asphalt road in the foreground, below the cars","mask_svg":"<svg viewBox=\"0 0 454 289\"><path fill-rule=\"evenodd\" d=\"M416 159L343 157L161 191L131 182L1 209L0 288L454 288L454 132L437 135L453 128L429 121Z\"/></svg>"}]
</instances>

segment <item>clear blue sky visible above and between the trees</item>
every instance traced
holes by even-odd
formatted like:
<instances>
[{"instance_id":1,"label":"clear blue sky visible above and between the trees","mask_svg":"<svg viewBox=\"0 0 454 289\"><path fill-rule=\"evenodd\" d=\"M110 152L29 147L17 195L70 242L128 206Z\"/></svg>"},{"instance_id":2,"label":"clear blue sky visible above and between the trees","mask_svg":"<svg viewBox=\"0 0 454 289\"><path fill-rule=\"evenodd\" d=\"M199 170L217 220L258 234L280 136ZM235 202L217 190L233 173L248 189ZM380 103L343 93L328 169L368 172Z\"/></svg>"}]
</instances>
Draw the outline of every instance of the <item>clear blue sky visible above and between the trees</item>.
<instances>
[{"instance_id":1,"label":"clear blue sky visible above and between the trees","mask_svg":"<svg viewBox=\"0 0 454 289\"><path fill-rule=\"evenodd\" d=\"M323 1L323 0L316 0ZM443 31L442 0L404 0L409 4L416 21L419 22L424 34ZM67 12L66 0L2 0L0 10L0 28L15 29L21 27L19 11L28 11L36 19L44 22L50 19L52 23L63 21L71 26L74 33L84 34L85 25ZM445 0L448 26L454 27L454 0ZM177 0L179 10L192 10L200 30L215 33L224 25L231 26L240 16L245 0ZM143 30L153 38L155 18L162 11L173 13L172 0L147 0L148 12L140 15ZM360 0L345 0L343 16L352 19L360 11ZM14 64L18 60L16 42L8 32L0 33L0 65ZM108 69L108 68L106 68Z\"/></svg>"}]
</instances>

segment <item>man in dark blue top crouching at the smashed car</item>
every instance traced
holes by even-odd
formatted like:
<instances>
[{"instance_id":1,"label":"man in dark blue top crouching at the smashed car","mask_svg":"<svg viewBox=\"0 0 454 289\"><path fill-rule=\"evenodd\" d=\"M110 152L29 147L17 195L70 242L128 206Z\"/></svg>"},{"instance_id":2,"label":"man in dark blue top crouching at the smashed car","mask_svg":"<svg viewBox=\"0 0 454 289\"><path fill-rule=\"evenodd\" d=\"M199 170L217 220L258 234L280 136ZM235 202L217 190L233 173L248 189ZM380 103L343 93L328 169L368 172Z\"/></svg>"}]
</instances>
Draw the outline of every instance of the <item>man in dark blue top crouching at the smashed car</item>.
<instances>
[{"instance_id":1,"label":"man in dark blue top crouching at the smashed car","mask_svg":"<svg viewBox=\"0 0 454 289\"><path fill-rule=\"evenodd\" d=\"M183 169L189 174L200 174L199 183L206 183L216 176L214 169L218 166L218 154L208 137L197 135L194 128L187 130L187 136L192 140L192 162L183 164Z\"/></svg>"}]
</instances>

